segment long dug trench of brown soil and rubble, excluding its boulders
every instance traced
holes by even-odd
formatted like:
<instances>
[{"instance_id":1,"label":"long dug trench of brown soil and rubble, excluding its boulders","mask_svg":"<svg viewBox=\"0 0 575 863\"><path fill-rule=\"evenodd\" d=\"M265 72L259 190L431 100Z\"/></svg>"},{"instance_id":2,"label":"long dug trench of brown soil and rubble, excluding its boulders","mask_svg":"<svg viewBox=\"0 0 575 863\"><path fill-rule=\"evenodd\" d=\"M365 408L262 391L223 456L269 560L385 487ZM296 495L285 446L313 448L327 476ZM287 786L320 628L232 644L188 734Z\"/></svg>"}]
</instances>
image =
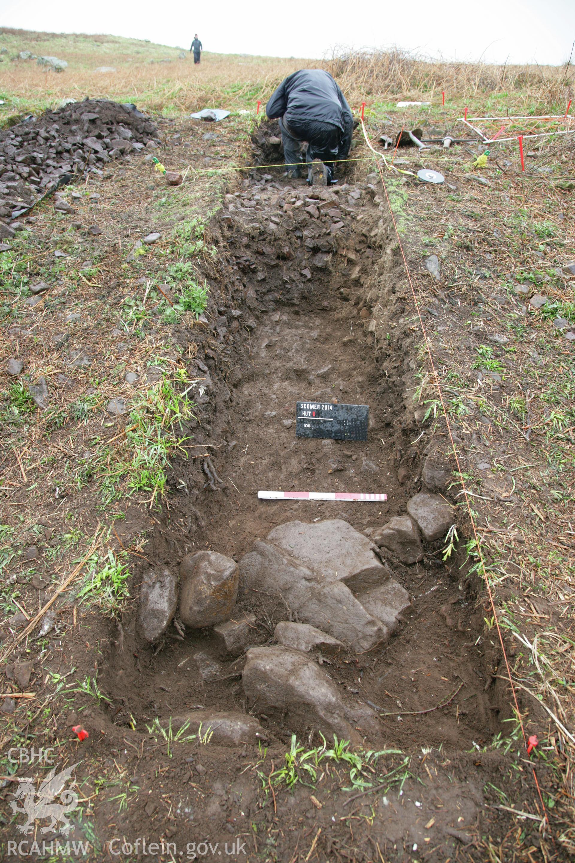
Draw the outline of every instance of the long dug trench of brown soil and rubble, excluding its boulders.
<instances>
[{"instance_id":1,"label":"long dug trench of brown soil and rubble, excluding its boulders","mask_svg":"<svg viewBox=\"0 0 575 863\"><path fill-rule=\"evenodd\" d=\"M170 511L147 546L151 564L177 571L184 555L202 550L240 560L294 520L345 520L370 536L428 490L421 474L429 438L421 438L409 394L416 345L409 308L395 297L397 251L370 183L309 190L254 171L227 196L211 229L224 262L212 273L209 324L179 333L202 381L197 421L186 430L191 456L200 457L173 464ZM370 407L366 443L296 438L296 401L334 399ZM259 501L259 489L384 492L387 501ZM461 561L442 561L443 545L425 545L422 561L410 565L382 549L412 597L409 611L387 643L337 652L322 665L348 703L378 716L364 734L368 747L456 753L499 727L483 612ZM281 598L271 611L241 591L234 615L246 612L255 615L257 645L274 644L278 620L293 620ZM103 663L109 718L143 731L154 717L241 711L283 746L301 728L289 711L267 715L250 701L244 661L222 655L209 628L182 634L172 625L150 646L134 609L121 637L110 633ZM313 723L306 730L319 740Z\"/></svg>"}]
</instances>

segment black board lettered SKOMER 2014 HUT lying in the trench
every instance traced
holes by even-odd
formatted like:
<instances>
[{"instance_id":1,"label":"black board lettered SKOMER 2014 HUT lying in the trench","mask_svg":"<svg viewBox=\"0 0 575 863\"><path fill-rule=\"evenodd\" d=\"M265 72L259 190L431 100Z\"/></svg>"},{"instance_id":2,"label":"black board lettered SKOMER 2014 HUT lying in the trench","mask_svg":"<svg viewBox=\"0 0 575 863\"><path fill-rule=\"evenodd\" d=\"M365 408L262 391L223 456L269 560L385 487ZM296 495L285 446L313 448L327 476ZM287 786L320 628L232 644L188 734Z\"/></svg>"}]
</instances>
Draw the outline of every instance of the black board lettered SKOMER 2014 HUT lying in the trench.
<instances>
[{"instance_id":1,"label":"black board lettered SKOMER 2014 HUT lying in the trench","mask_svg":"<svg viewBox=\"0 0 575 863\"><path fill-rule=\"evenodd\" d=\"M298 401L297 438L367 440L367 405L332 405L325 401Z\"/></svg>"}]
</instances>

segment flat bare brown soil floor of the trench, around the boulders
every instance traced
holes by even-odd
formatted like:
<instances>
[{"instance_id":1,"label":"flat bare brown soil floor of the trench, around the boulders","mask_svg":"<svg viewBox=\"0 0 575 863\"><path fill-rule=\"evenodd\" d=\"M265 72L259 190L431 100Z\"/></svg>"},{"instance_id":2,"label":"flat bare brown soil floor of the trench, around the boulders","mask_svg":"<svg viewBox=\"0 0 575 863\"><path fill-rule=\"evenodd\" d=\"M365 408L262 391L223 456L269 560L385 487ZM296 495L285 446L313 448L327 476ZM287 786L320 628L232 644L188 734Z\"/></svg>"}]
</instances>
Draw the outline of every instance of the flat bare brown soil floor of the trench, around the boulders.
<instances>
[{"instance_id":1,"label":"flat bare brown soil floor of the trench, around the boulders","mask_svg":"<svg viewBox=\"0 0 575 863\"><path fill-rule=\"evenodd\" d=\"M253 542L285 521L343 519L360 532L402 512L405 485L389 455L392 425L378 421L384 394L378 387L372 352L361 343L345 341L350 324L337 316L341 300L317 280L309 290L307 307L280 306L262 316L252 338L252 356L235 390L231 450L217 461L227 488L210 492L207 524L194 549L203 547L238 559ZM366 443L295 437L297 400L331 400L372 407ZM409 483L407 484L409 488ZM257 501L259 488L284 490L384 491L384 504ZM408 495L409 496L409 495ZM184 507L185 509L185 507ZM404 511L404 510L403 510ZM439 558L438 558L439 560ZM473 603L466 602L457 581L442 563L427 557L405 567L390 561L403 586L414 597L413 611L403 630L388 646L348 656L330 669L334 679L360 701L377 705L382 713L426 710L447 700L459 688L457 707L428 715L393 715L382 720L385 745L453 746L469 749L472 742L490 739L494 724L484 696L481 656L473 642L479 625ZM272 638L272 631L263 636ZM271 627L269 627L271 629ZM133 669L123 667L116 696L129 703L140 720L154 715L168 718L201 704L210 709L249 709L241 683L229 679L234 666L222 665L223 683L206 683L194 660L203 652L218 662L209 630L187 633L184 641L168 639L167 646ZM134 682L133 690L127 693ZM143 685L142 685L143 683ZM289 715L284 728L272 734L289 739ZM374 741L375 742L375 741Z\"/></svg>"}]
</instances>

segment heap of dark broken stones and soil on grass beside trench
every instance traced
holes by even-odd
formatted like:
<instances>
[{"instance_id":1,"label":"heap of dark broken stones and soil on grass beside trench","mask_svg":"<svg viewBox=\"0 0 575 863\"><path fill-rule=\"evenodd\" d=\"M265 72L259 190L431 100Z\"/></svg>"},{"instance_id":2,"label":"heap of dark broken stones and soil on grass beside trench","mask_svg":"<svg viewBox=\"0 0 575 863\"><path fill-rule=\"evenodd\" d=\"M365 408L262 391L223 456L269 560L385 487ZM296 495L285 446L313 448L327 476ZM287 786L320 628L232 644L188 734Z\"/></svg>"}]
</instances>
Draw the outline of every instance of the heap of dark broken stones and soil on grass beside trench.
<instances>
[{"instance_id":1,"label":"heap of dark broken stones and soil on grass beside trench","mask_svg":"<svg viewBox=\"0 0 575 863\"><path fill-rule=\"evenodd\" d=\"M16 218L63 174L97 171L111 159L140 151L156 131L134 105L97 99L47 110L3 129L0 218Z\"/></svg>"}]
</instances>

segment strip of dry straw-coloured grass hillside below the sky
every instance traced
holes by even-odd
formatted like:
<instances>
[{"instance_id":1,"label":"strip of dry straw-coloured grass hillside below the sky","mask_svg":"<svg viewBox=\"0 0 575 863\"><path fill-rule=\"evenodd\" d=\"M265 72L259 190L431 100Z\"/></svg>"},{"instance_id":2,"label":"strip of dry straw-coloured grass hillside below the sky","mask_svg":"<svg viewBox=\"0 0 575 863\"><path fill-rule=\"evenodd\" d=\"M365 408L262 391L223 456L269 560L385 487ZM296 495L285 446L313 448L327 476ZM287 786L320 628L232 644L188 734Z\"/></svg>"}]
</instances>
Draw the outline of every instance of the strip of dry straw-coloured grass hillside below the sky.
<instances>
[{"instance_id":1,"label":"strip of dry straw-coloured grass hillside below the sky","mask_svg":"<svg viewBox=\"0 0 575 863\"><path fill-rule=\"evenodd\" d=\"M191 54L179 59L176 47L109 35L58 35L0 28L0 47L9 54L0 65L0 89L9 98L10 113L40 111L64 98L112 98L132 101L145 110L178 114L206 106L230 110L263 102L286 75L304 67L328 69L353 108L396 98L438 103L446 91L448 104L473 102L482 110L565 110L572 98L574 67L493 66L484 63L428 60L398 48L361 52L337 50L329 60L203 54L194 66ZM68 62L66 72L53 74L34 60L17 60L22 50L56 54ZM116 72L96 72L113 66ZM6 109L4 109L6 110Z\"/></svg>"}]
</instances>

